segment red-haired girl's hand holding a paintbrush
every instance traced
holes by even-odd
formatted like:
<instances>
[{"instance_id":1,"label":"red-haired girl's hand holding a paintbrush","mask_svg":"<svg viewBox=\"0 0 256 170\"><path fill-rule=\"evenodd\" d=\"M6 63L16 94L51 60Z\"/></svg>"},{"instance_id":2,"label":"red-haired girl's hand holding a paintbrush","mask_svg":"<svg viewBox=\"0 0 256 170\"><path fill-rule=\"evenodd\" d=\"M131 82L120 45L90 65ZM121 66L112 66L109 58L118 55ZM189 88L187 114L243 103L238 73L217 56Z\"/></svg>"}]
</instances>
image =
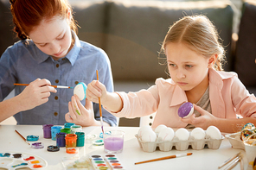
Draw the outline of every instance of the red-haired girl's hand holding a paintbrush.
<instances>
[{"instance_id":1,"label":"red-haired girl's hand holding a paintbrush","mask_svg":"<svg viewBox=\"0 0 256 170\"><path fill-rule=\"evenodd\" d=\"M48 102L50 92L57 92L48 79L35 79L17 97L22 110L31 110Z\"/></svg>"}]
</instances>

